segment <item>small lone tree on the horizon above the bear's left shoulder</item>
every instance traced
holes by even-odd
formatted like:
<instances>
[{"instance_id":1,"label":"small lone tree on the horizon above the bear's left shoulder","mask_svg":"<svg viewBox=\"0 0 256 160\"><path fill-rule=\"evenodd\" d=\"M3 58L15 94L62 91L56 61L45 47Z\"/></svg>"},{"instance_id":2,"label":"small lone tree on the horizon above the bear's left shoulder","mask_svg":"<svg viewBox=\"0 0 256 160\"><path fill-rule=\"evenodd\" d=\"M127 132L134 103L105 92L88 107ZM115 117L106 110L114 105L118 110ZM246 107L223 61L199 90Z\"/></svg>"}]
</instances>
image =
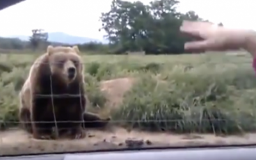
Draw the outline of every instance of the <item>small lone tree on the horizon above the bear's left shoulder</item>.
<instances>
[{"instance_id":1,"label":"small lone tree on the horizon above the bear's left shoulder","mask_svg":"<svg viewBox=\"0 0 256 160\"><path fill-rule=\"evenodd\" d=\"M29 37L29 42L33 49L37 49L39 45L45 44L48 40L48 33L43 29L32 29L32 36Z\"/></svg>"}]
</instances>

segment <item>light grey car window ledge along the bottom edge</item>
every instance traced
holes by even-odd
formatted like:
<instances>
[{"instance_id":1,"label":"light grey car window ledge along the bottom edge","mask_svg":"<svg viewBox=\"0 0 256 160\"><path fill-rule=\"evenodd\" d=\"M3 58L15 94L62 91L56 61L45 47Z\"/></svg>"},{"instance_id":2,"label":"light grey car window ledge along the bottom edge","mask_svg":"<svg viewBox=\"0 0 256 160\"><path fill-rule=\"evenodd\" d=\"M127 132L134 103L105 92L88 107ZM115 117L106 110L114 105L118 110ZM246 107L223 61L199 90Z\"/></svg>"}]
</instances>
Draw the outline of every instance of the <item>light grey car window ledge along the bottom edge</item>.
<instances>
[{"instance_id":1,"label":"light grey car window ledge along the bottom edge","mask_svg":"<svg viewBox=\"0 0 256 160\"><path fill-rule=\"evenodd\" d=\"M140 148L137 148L140 149ZM6 156L3 159L13 160L255 160L256 144L237 145L237 146L219 146L219 147L189 147L189 148L153 148L142 150L119 150L119 151L97 151L86 153L64 153L64 154L43 154L38 156Z\"/></svg>"}]
</instances>

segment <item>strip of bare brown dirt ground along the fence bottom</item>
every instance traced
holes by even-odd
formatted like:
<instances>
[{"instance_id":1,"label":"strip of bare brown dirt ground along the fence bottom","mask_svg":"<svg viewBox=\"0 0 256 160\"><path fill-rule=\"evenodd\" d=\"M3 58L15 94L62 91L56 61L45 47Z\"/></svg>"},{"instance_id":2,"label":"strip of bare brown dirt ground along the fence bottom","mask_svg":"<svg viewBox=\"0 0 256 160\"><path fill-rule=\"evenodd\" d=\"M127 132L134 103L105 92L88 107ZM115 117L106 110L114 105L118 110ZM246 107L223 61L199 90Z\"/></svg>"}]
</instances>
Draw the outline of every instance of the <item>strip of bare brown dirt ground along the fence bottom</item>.
<instances>
[{"instance_id":1,"label":"strip of bare brown dirt ground along the fence bottom","mask_svg":"<svg viewBox=\"0 0 256 160\"><path fill-rule=\"evenodd\" d=\"M228 145L256 143L256 134L214 136L213 134L171 134L142 131L88 131L82 140L34 140L20 129L0 132L0 155L72 152L131 147Z\"/></svg>"}]
</instances>

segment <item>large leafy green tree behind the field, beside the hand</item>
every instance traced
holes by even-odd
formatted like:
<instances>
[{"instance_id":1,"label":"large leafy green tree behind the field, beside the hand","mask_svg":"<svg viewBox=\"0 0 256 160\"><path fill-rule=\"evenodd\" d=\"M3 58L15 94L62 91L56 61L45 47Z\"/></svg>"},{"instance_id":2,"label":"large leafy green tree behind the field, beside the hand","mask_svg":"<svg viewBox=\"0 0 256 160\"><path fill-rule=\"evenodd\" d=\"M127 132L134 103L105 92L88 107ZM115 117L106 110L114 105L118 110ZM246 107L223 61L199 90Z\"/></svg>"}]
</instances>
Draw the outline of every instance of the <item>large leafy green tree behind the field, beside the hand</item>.
<instances>
[{"instance_id":1,"label":"large leafy green tree behind the field, beside the hand","mask_svg":"<svg viewBox=\"0 0 256 160\"><path fill-rule=\"evenodd\" d=\"M145 5L140 1L113 0L109 12L100 20L116 53L145 51L154 53L184 52L184 42L191 38L180 35L182 20L202 20L193 11L177 12L176 0L155 0Z\"/></svg>"}]
</instances>

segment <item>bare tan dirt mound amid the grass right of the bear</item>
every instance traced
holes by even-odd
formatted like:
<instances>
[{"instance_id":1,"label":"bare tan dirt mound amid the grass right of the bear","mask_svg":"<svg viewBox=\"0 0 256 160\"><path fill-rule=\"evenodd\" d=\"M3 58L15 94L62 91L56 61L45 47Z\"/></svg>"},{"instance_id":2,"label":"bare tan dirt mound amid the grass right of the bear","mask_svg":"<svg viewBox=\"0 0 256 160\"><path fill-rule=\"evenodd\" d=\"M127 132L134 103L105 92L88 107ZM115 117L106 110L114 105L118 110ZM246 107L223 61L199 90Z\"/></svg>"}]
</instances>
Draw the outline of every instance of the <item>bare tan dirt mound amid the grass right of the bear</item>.
<instances>
[{"instance_id":1,"label":"bare tan dirt mound amid the grass right of the bear","mask_svg":"<svg viewBox=\"0 0 256 160\"><path fill-rule=\"evenodd\" d=\"M105 93L106 99L108 100L106 106L111 108L120 106L124 93L131 89L132 84L134 84L134 79L131 77L102 81L100 83L100 90Z\"/></svg>"}]
</instances>

